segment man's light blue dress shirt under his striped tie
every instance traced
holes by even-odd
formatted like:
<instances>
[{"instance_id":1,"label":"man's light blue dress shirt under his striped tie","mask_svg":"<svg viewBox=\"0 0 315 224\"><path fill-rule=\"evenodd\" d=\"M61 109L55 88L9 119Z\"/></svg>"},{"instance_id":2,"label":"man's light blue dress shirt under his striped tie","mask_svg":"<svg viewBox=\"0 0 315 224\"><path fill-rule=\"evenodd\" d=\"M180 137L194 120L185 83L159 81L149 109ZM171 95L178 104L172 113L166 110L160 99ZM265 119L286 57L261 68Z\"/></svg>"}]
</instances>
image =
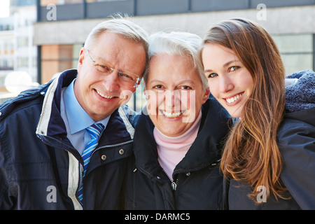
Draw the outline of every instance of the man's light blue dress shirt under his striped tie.
<instances>
[{"instance_id":1,"label":"man's light blue dress shirt under his striped tie","mask_svg":"<svg viewBox=\"0 0 315 224\"><path fill-rule=\"evenodd\" d=\"M73 88L75 80L76 79L74 79L68 87L62 88L60 113L62 119L64 120L64 124L66 125L68 139L80 155L82 155L85 146L87 146L87 143L91 139L90 134L85 130L85 128L90 127L95 122L85 112L82 106L80 106L78 100L76 99ZM110 117L111 116L105 118L104 120L100 120L97 123L102 123L106 128Z\"/></svg>"}]
</instances>

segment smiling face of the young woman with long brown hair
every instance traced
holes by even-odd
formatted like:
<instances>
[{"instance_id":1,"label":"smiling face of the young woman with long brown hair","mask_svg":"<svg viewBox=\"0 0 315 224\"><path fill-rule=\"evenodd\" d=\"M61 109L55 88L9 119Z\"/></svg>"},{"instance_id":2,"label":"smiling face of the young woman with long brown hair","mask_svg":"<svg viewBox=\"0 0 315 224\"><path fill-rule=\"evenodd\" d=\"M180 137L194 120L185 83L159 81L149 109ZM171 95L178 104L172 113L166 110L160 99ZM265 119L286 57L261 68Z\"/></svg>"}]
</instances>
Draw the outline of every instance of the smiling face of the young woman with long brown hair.
<instances>
[{"instance_id":1,"label":"smiling face of the young woman with long brown hair","mask_svg":"<svg viewBox=\"0 0 315 224\"><path fill-rule=\"evenodd\" d=\"M232 117L241 117L244 104L253 92L251 73L235 52L219 44L204 45L202 62L211 94Z\"/></svg>"}]
</instances>

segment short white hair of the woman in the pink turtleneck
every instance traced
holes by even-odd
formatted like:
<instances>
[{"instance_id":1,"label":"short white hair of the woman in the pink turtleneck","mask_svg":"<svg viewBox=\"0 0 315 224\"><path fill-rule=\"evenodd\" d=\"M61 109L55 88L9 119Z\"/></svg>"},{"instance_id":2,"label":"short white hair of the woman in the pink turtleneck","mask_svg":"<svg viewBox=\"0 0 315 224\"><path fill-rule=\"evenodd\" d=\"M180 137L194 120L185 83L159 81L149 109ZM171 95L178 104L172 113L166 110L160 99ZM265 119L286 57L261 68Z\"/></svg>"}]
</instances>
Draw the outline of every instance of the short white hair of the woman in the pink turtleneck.
<instances>
[{"instance_id":1,"label":"short white hair of the woman in the pink turtleneck","mask_svg":"<svg viewBox=\"0 0 315 224\"><path fill-rule=\"evenodd\" d=\"M162 54L191 57L202 80L203 90L209 87L207 77L204 76L202 62L197 57L200 45L202 45L200 36L186 31L160 31L152 34L148 38L148 43L149 59L155 55ZM147 80L148 71L144 75L144 82L146 83Z\"/></svg>"}]
</instances>

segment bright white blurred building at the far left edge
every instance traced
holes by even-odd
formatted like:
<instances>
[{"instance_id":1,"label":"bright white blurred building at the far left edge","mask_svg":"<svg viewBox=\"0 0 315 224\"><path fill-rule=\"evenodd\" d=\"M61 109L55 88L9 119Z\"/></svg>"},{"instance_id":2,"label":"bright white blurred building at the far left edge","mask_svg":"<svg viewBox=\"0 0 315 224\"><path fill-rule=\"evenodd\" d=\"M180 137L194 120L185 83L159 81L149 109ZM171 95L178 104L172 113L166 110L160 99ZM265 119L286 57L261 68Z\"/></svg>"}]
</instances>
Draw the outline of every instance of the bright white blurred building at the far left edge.
<instances>
[{"instance_id":1,"label":"bright white blurred building at the far left edge","mask_svg":"<svg viewBox=\"0 0 315 224\"><path fill-rule=\"evenodd\" d=\"M27 74L29 85L38 79L37 46L33 43L36 16L36 0L10 0L10 15L0 18L0 102L17 94L8 93L8 74ZM17 78L12 85L18 87L19 81L23 82Z\"/></svg>"}]
</instances>

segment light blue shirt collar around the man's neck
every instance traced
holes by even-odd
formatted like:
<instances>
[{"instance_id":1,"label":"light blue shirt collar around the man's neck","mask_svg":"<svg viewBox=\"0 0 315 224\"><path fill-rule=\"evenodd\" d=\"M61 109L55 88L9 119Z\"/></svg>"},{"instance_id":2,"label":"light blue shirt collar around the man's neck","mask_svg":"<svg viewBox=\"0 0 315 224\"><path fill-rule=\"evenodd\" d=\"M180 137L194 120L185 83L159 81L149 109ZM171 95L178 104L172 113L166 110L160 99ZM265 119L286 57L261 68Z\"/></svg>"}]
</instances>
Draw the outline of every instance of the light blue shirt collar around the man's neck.
<instances>
[{"instance_id":1,"label":"light blue shirt collar around the man's neck","mask_svg":"<svg viewBox=\"0 0 315 224\"><path fill-rule=\"evenodd\" d=\"M68 119L71 134L85 130L85 128L90 127L95 123L82 106L80 106L78 99L76 99L76 95L74 94L75 80L76 79L74 79L64 91L64 109L66 111L66 118ZM111 116L104 120L100 120L97 123L102 123L104 127L106 127L110 117Z\"/></svg>"}]
</instances>

